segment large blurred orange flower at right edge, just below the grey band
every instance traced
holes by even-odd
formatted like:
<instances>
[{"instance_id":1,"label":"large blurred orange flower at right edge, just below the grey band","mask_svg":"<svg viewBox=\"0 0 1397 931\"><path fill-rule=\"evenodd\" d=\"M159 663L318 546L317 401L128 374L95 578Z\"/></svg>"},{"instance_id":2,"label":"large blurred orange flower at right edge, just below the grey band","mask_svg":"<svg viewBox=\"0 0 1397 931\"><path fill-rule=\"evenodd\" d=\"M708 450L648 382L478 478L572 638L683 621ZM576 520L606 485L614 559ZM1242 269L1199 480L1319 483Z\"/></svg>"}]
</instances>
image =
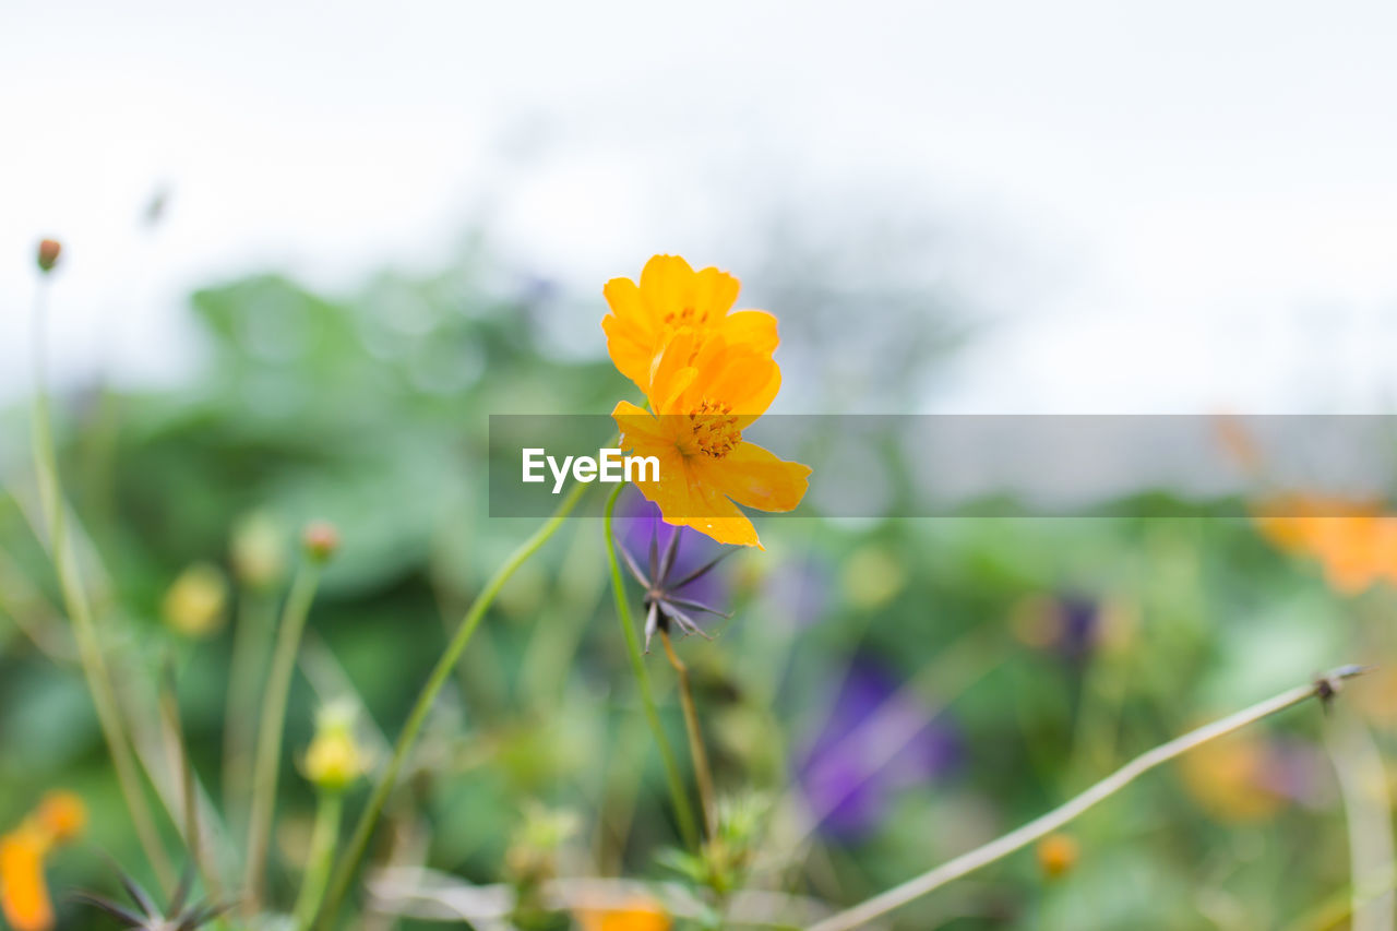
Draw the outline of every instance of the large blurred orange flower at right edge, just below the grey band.
<instances>
[{"instance_id":1,"label":"large blurred orange flower at right edge, just below the grey band","mask_svg":"<svg viewBox=\"0 0 1397 931\"><path fill-rule=\"evenodd\" d=\"M1280 549L1317 561L1336 591L1397 583L1397 517L1376 503L1291 495L1266 503L1256 524Z\"/></svg>"}]
</instances>

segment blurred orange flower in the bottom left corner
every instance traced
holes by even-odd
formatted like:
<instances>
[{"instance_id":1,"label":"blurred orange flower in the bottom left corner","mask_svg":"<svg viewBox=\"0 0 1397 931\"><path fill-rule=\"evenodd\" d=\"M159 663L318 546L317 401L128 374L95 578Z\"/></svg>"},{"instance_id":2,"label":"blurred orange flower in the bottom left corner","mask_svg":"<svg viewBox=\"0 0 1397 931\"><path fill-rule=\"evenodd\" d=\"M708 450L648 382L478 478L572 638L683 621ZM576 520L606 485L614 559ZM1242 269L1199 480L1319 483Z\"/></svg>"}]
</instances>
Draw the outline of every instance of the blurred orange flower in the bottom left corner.
<instances>
[{"instance_id":1,"label":"blurred orange flower in the bottom left corner","mask_svg":"<svg viewBox=\"0 0 1397 931\"><path fill-rule=\"evenodd\" d=\"M0 911L15 931L53 927L43 863L54 844L77 837L87 808L73 793L52 791L24 822L0 837Z\"/></svg>"}]
</instances>

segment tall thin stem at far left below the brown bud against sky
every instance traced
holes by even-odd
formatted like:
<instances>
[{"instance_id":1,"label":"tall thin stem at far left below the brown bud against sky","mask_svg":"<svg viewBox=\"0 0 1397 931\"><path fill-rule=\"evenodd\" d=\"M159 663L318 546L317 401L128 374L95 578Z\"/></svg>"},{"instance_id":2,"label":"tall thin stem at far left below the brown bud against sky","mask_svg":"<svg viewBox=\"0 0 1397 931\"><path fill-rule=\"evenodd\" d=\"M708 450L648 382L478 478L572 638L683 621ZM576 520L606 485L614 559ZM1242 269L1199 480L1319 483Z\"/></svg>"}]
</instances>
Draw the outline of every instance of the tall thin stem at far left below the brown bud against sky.
<instances>
[{"instance_id":1,"label":"tall thin stem at far left below the brown bud against sky","mask_svg":"<svg viewBox=\"0 0 1397 931\"><path fill-rule=\"evenodd\" d=\"M141 780L136 759L131 753L131 742L122 721L120 706L116 702L116 689L112 685L112 674L106 665L102 651L102 642L98 637L96 625L92 619L92 605L88 602L87 589L82 584L78 569L77 554L68 541L67 505L63 498L63 482L59 477L59 457L53 446L53 425L49 418L49 394L45 386L45 313L43 291L45 284L39 282L34 303L34 470L39 484L39 503L43 509L45 523L49 526L49 558L59 576L59 589L63 594L63 605L73 621L73 636L78 646L78 660L82 665L82 677L87 679L88 691L92 693L92 705L96 707L98 724L102 727L102 737L106 741L108 752L112 755L112 766L116 770L116 781L126 798L126 808L131 815L131 825L140 839L145 857L155 869L156 878L166 888L175 881L169 856L161 843L159 832L155 829L155 819L151 815L149 804L141 790Z\"/></svg>"}]
</instances>

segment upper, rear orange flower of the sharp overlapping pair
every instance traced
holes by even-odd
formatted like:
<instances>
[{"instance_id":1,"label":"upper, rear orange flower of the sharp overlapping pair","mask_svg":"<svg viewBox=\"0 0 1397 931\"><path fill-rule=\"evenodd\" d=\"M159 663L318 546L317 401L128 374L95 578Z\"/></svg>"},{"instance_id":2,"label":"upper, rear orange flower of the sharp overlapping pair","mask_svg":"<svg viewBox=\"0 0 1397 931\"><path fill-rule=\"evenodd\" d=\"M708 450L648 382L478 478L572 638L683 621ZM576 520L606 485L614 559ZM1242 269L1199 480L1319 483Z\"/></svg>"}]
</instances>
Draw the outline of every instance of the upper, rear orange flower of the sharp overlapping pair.
<instances>
[{"instance_id":1,"label":"upper, rear orange flower of the sharp overlapping pair","mask_svg":"<svg viewBox=\"0 0 1397 931\"><path fill-rule=\"evenodd\" d=\"M678 337L693 337L694 351L719 337L770 356L778 342L777 319L764 310L731 312L738 287L728 273L694 271L679 256L647 261L638 285L630 278L612 278L604 289L612 312L602 319L612 362L654 400L655 365Z\"/></svg>"}]
</instances>

